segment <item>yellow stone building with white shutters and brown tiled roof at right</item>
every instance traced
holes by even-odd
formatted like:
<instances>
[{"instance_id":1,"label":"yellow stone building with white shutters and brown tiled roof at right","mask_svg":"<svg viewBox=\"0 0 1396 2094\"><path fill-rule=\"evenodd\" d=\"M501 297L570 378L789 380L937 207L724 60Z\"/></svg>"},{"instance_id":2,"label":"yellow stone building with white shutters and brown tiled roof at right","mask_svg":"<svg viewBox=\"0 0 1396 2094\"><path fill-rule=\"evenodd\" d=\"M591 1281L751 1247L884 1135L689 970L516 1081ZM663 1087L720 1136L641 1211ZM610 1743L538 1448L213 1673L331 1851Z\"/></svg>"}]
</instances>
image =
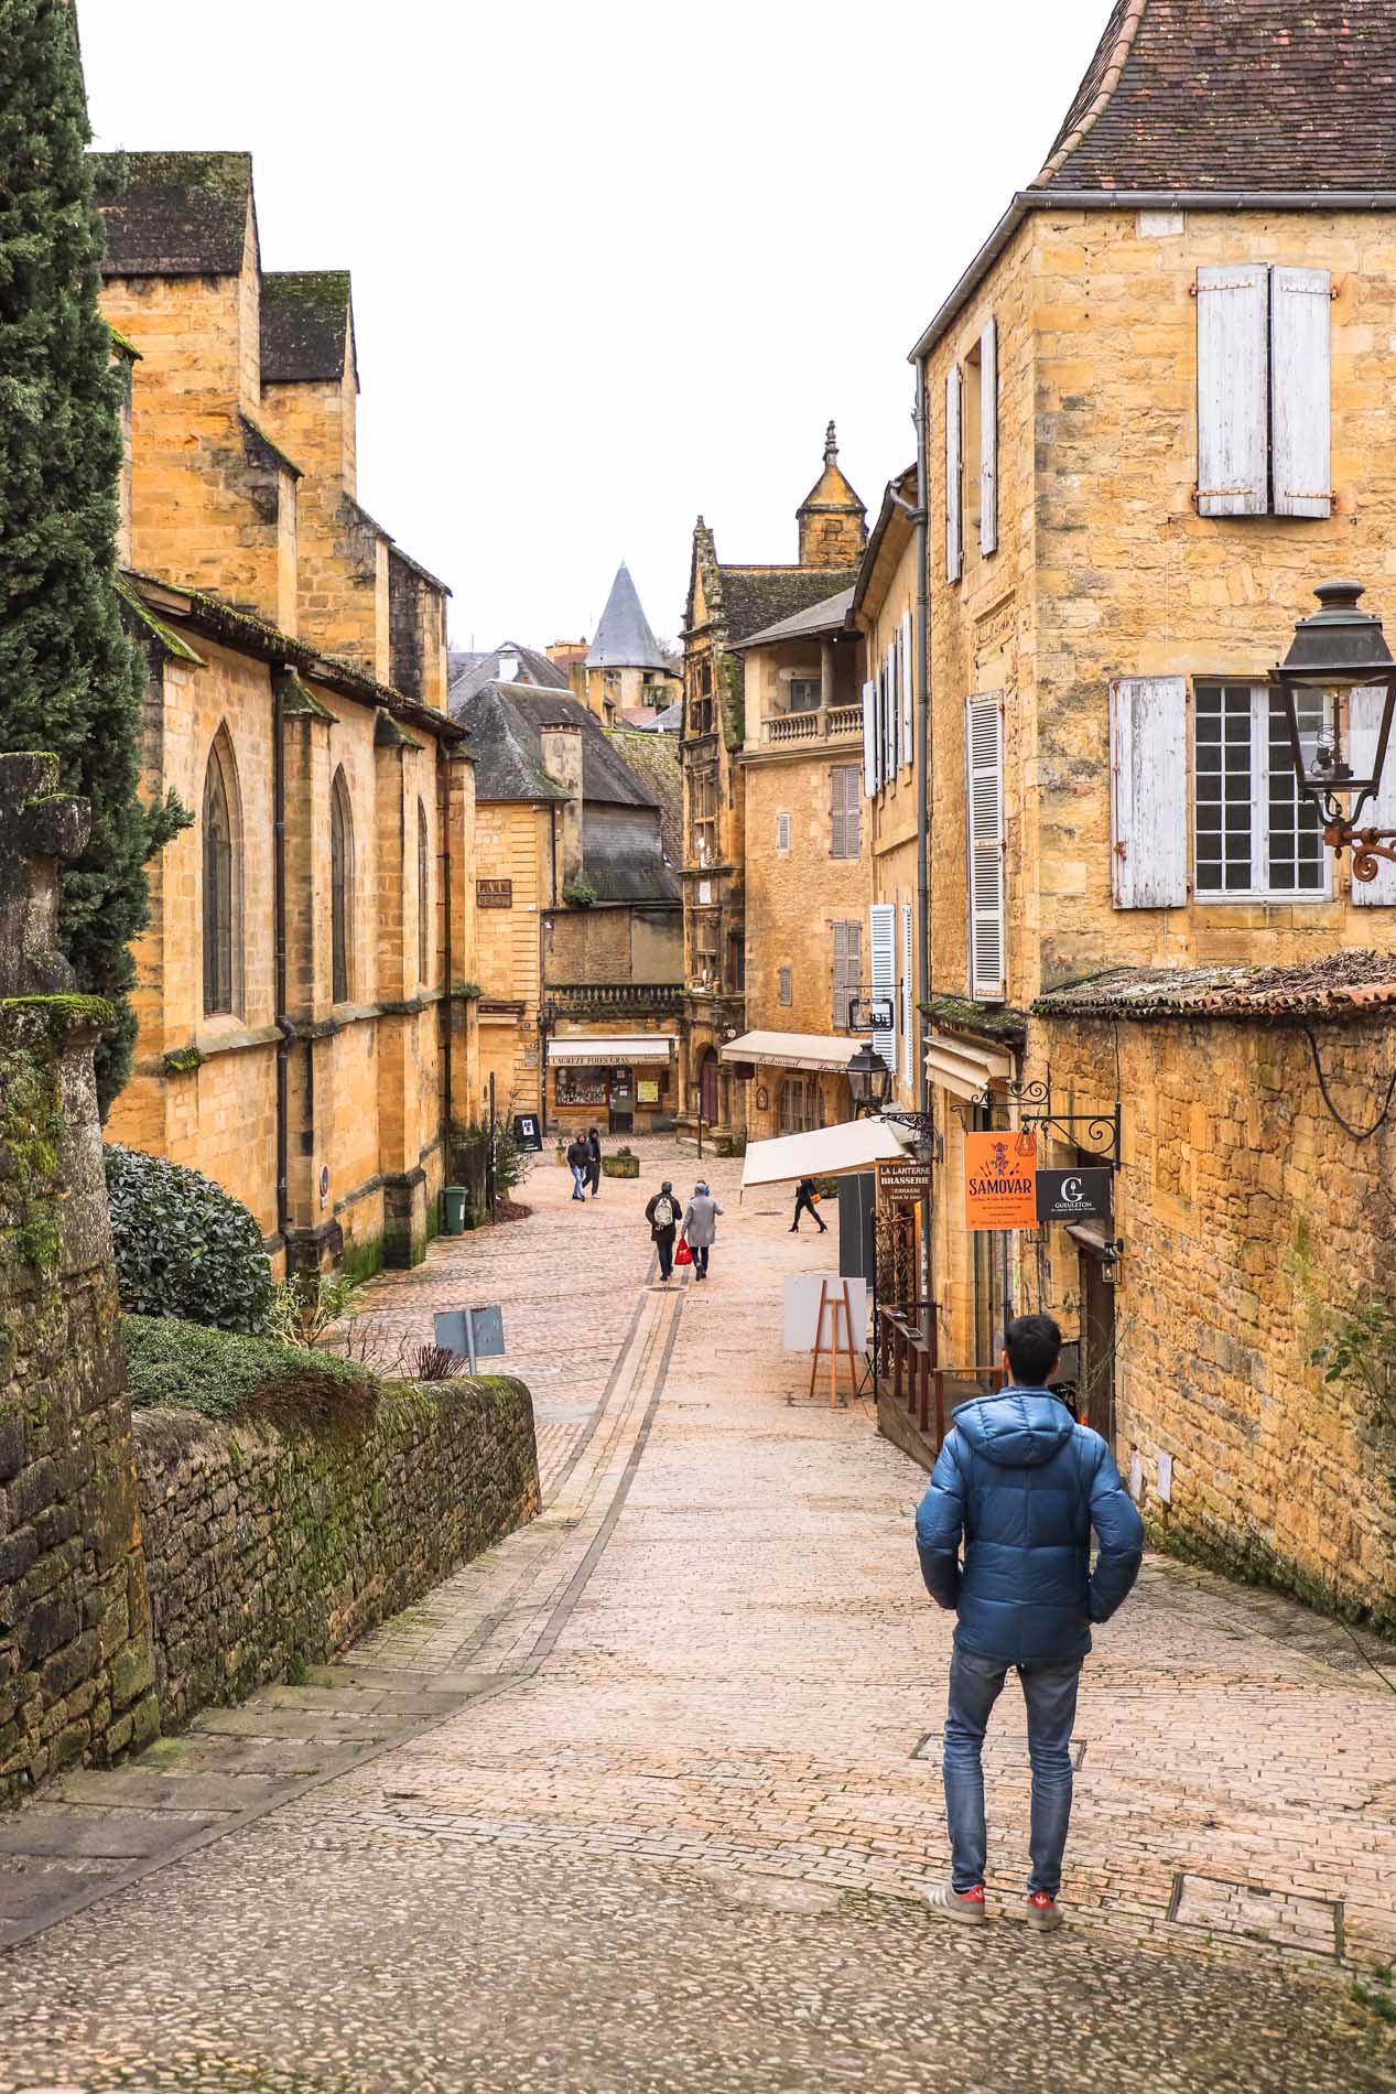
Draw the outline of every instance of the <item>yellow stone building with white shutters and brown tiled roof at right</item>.
<instances>
[{"instance_id":1,"label":"yellow stone building with white shutters and brown tiled roof at right","mask_svg":"<svg viewBox=\"0 0 1396 2094\"><path fill-rule=\"evenodd\" d=\"M1375 0L1120 0L915 348L940 1357L1053 1309L1155 1533L1386 1617L1383 1426L1312 1353L1396 1288L1396 873L1325 850L1266 678L1331 574L1396 618L1394 69ZM1113 1212L965 1231L1013 1081Z\"/></svg>"}]
</instances>

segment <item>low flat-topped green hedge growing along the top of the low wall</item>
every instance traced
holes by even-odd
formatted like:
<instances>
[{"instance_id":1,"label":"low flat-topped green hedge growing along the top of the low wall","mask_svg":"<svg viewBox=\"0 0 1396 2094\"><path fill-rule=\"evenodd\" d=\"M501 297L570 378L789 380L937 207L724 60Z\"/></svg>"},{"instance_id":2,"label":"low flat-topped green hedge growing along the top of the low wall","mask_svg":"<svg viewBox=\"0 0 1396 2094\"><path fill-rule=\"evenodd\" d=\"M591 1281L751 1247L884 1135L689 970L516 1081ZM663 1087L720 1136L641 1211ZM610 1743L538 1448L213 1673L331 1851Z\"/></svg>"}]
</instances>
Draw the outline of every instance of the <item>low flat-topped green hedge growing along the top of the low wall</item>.
<instances>
[{"instance_id":1,"label":"low flat-topped green hedge growing along the top of the low wall","mask_svg":"<svg viewBox=\"0 0 1396 2094\"><path fill-rule=\"evenodd\" d=\"M377 1409L381 1382L335 1353L151 1315L121 1317L121 1332L134 1411L362 1424Z\"/></svg>"}]
</instances>

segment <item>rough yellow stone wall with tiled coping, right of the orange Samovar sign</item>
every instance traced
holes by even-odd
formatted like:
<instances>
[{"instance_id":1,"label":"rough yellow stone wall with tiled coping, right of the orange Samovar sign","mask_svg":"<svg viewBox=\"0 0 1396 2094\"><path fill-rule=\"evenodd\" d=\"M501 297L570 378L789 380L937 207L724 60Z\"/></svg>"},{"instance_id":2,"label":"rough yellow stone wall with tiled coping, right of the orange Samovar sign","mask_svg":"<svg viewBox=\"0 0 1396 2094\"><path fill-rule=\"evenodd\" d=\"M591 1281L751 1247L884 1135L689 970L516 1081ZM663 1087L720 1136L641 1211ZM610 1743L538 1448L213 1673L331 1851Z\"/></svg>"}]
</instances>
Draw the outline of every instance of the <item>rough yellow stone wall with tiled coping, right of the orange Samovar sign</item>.
<instances>
[{"instance_id":1,"label":"rough yellow stone wall with tiled coping, right of the orange Samovar sign","mask_svg":"<svg viewBox=\"0 0 1396 2094\"><path fill-rule=\"evenodd\" d=\"M1369 1127L1390 1030L1314 1039L1337 1110ZM1344 1133L1296 1028L1053 1020L1028 1074L1049 1066L1061 1110L1124 1101L1116 1455L1126 1474L1139 1455L1153 1539L1396 1627L1396 1413L1312 1365L1348 1305L1396 1298L1396 1124ZM1028 1302L1074 1338L1076 1244L1021 1244Z\"/></svg>"}]
</instances>

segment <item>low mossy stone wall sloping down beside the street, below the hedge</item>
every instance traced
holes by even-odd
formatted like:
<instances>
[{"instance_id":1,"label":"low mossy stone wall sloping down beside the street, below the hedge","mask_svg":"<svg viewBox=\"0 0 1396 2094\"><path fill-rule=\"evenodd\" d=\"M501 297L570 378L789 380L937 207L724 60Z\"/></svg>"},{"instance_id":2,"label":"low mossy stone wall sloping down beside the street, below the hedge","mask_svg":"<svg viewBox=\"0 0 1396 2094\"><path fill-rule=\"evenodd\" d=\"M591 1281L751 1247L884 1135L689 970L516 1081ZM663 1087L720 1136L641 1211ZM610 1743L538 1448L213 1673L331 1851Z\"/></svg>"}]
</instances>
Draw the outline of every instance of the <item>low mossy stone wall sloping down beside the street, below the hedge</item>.
<instances>
[{"instance_id":1,"label":"low mossy stone wall sloping down beside the street, below the hedge","mask_svg":"<svg viewBox=\"0 0 1396 2094\"><path fill-rule=\"evenodd\" d=\"M335 1656L538 1512L513 1380L396 1395L356 1436L134 1426L165 1728Z\"/></svg>"}]
</instances>

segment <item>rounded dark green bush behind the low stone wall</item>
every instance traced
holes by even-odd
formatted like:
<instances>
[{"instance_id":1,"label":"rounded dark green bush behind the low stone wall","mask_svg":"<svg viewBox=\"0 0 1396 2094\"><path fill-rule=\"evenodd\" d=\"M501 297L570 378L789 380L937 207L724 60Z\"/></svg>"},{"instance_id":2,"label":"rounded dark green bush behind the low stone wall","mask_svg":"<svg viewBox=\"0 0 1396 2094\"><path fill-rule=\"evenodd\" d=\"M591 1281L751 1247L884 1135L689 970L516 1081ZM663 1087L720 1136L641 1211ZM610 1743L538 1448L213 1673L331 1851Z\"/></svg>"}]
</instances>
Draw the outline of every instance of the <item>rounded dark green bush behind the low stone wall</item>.
<instances>
[{"instance_id":1,"label":"rounded dark green bush behind the low stone wall","mask_svg":"<svg viewBox=\"0 0 1396 2094\"><path fill-rule=\"evenodd\" d=\"M201 1171L115 1141L103 1162L121 1307L218 1330L266 1330L272 1269L241 1200Z\"/></svg>"}]
</instances>

